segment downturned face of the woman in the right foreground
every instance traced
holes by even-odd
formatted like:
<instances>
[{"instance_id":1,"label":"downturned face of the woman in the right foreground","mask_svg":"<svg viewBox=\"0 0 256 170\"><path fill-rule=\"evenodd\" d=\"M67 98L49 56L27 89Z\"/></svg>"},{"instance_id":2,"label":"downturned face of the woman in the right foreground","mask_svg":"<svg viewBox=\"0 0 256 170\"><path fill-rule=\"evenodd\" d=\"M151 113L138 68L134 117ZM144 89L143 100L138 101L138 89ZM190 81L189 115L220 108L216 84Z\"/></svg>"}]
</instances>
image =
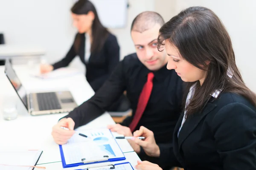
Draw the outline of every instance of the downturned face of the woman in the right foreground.
<instances>
[{"instance_id":1,"label":"downturned face of the woman in the right foreground","mask_svg":"<svg viewBox=\"0 0 256 170\"><path fill-rule=\"evenodd\" d=\"M175 69L176 73L184 82L195 82L200 81L202 85L206 77L206 71L201 70L194 65L187 62L180 56L180 53L174 45L166 42L165 44L166 53L169 56L167 69Z\"/></svg>"}]
</instances>

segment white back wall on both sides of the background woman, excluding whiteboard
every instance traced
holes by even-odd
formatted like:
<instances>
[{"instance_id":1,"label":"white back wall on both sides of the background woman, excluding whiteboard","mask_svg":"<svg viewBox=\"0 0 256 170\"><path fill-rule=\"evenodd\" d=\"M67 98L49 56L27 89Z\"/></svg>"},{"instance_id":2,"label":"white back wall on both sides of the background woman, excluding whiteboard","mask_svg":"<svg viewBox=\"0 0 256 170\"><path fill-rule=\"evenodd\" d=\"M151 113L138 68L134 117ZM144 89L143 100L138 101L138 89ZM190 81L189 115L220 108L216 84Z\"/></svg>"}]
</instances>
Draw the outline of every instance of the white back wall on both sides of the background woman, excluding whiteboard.
<instances>
[{"instance_id":1,"label":"white back wall on both sides of the background woman, excluding whiteboard","mask_svg":"<svg viewBox=\"0 0 256 170\"><path fill-rule=\"evenodd\" d=\"M73 0L0 0L0 32L6 44L35 45L46 49L49 63L63 58L73 43L70 7ZM110 29L121 47L120 58L134 52L130 26L142 11L154 10L154 0L129 0L127 28ZM78 58L71 66L84 69Z\"/></svg>"}]
</instances>

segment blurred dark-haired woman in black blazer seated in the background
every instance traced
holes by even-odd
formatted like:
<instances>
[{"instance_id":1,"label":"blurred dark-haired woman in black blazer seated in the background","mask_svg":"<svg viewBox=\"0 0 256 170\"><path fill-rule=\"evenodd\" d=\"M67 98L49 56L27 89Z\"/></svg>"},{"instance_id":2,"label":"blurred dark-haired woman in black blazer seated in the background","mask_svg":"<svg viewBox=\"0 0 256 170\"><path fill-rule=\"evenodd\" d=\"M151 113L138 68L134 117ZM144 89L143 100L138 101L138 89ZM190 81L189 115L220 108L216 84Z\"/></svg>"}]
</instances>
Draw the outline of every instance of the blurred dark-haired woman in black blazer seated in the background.
<instances>
[{"instance_id":1,"label":"blurred dark-haired woman in black blazer seated in the background","mask_svg":"<svg viewBox=\"0 0 256 170\"><path fill-rule=\"evenodd\" d=\"M73 45L66 57L53 65L43 64L41 73L66 67L78 55L86 66L86 79L96 92L119 62L116 37L100 22L96 8L89 0L79 0L71 8L73 25L77 28ZM108 111L126 111L129 103L123 95Z\"/></svg>"}]
</instances>

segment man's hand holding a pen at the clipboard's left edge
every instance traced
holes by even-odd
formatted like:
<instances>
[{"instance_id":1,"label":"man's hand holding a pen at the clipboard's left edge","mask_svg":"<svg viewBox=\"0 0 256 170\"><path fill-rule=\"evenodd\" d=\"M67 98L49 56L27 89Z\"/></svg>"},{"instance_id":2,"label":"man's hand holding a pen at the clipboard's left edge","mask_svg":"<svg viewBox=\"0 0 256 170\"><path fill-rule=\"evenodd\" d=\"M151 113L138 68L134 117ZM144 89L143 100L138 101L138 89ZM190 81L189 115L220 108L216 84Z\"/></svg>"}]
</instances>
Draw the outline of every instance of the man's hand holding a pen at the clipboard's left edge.
<instances>
[{"instance_id":1,"label":"man's hand holding a pen at the clipboard's left edge","mask_svg":"<svg viewBox=\"0 0 256 170\"><path fill-rule=\"evenodd\" d=\"M69 130L64 130L61 128L67 127ZM57 144L65 144L68 139L70 139L75 133L74 130L75 122L71 118L63 118L58 124L52 127L52 137Z\"/></svg>"}]
</instances>

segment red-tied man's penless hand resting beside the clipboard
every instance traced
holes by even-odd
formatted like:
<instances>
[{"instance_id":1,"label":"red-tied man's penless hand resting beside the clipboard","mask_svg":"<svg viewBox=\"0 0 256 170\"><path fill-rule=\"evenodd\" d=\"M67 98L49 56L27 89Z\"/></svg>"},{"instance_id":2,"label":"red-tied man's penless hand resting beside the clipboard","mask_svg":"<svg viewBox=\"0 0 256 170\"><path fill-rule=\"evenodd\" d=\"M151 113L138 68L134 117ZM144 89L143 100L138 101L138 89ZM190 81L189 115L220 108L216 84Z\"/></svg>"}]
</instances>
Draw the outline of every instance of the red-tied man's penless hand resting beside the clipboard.
<instances>
[{"instance_id":1,"label":"red-tied man's penless hand resting beside the clipboard","mask_svg":"<svg viewBox=\"0 0 256 170\"><path fill-rule=\"evenodd\" d=\"M119 133L124 136L132 136L131 129L126 126L122 126L120 124L115 124L115 125L108 125L108 128L112 132ZM122 139L121 139L122 140ZM140 146L136 144L133 140L128 139L128 142L131 144L131 147L134 149L136 153L140 153Z\"/></svg>"}]
</instances>

